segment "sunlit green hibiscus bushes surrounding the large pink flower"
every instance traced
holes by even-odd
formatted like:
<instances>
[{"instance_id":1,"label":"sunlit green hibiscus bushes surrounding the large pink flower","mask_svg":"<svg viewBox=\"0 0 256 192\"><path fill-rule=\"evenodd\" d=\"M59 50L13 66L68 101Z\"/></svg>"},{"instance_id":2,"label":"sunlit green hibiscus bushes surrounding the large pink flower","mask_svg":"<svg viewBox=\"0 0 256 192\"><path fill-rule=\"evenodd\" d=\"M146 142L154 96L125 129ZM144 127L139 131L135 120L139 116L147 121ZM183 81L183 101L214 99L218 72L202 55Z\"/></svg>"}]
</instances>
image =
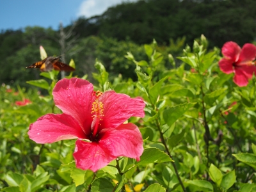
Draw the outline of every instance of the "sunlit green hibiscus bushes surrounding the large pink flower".
<instances>
[{"instance_id":1,"label":"sunlit green hibiscus bushes surrounding the large pink flower","mask_svg":"<svg viewBox=\"0 0 256 192\"><path fill-rule=\"evenodd\" d=\"M27 30L26 38L33 31L47 32ZM168 48L156 40L139 46L95 36L80 43L77 46L90 45L83 50L88 51L86 61L91 58L95 64L88 72L95 90L115 90L145 101L145 117L129 119L140 127L143 138L140 161L118 157L93 173L76 168L74 140L44 145L29 140L31 123L47 113L61 113L52 99L58 72L34 70L38 79L26 80L31 89L0 87L2 191L255 191L255 77L248 86L237 87L233 75L223 74L218 67L220 51L207 51L204 36L195 41L192 51L185 47L177 61L168 50L175 50L173 44L180 49L183 40ZM93 49L99 51L97 60ZM26 51L22 49L20 57L22 52L27 57ZM109 63L116 62L113 68L107 61L111 52L118 52L109 57ZM87 77L76 61L80 57L70 60L77 74L68 78ZM114 70L124 68L122 75L114 76ZM17 69L17 73L21 72ZM38 88L45 90L44 96ZM15 103L25 99L31 103Z\"/></svg>"}]
</instances>

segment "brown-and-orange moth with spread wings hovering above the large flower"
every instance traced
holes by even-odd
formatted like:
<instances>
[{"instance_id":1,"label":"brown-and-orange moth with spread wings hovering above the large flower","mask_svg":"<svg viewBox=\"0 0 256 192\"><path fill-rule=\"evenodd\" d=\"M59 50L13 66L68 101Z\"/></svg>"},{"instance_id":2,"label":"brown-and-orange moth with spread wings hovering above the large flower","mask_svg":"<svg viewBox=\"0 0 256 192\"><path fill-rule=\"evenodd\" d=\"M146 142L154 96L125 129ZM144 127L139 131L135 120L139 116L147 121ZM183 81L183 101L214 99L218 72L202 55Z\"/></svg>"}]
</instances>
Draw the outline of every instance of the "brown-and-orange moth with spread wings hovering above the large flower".
<instances>
[{"instance_id":1,"label":"brown-and-orange moth with spread wings hovering above the large flower","mask_svg":"<svg viewBox=\"0 0 256 192\"><path fill-rule=\"evenodd\" d=\"M44 60L37 61L36 63L33 63L32 65L26 68L40 68L40 71L42 72L51 71L51 70L64 70L64 71L70 72L75 70L73 67L70 67L65 63L61 63L59 60L60 58L58 57L49 56Z\"/></svg>"}]
</instances>

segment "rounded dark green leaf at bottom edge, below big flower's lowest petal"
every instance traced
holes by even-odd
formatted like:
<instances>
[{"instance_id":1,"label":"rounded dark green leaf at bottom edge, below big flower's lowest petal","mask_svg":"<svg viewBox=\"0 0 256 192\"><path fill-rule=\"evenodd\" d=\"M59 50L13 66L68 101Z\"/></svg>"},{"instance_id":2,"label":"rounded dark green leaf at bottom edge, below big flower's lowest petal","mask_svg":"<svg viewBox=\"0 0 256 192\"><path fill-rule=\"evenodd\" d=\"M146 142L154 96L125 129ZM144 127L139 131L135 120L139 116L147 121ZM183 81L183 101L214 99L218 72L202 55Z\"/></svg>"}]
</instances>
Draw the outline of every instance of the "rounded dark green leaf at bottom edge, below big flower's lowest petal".
<instances>
[{"instance_id":1,"label":"rounded dark green leaf at bottom edge, below big flower's lowest petal","mask_svg":"<svg viewBox=\"0 0 256 192\"><path fill-rule=\"evenodd\" d=\"M106 178L97 178L92 183L92 192L113 192L113 184Z\"/></svg>"}]
</instances>

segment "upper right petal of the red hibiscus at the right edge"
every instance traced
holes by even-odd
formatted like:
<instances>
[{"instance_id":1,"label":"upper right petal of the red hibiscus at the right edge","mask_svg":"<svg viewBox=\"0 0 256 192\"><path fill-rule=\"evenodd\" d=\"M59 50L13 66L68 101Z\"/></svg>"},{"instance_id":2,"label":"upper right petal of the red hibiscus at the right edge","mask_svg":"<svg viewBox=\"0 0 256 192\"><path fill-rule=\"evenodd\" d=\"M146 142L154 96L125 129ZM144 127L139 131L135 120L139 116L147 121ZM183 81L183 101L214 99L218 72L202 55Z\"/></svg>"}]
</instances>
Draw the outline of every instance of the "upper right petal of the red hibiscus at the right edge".
<instances>
[{"instance_id":1,"label":"upper right petal of the red hibiscus at the right edge","mask_svg":"<svg viewBox=\"0 0 256 192\"><path fill-rule=\"evenodd\" d=\"M253 44L244 44L239 56L238 62L252 61L256 57L256 46Z\"/></svg>"}]
</instances>

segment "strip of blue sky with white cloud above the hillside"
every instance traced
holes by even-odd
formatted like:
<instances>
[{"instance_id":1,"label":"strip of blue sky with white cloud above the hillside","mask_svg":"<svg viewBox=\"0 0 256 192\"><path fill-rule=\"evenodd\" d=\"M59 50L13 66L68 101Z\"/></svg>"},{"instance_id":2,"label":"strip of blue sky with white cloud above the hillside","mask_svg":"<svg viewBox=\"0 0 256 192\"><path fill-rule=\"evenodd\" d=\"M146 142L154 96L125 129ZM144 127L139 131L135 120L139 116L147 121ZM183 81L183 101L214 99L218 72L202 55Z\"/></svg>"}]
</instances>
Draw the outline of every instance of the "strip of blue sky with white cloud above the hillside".
<instances>
[{"instance_id":1,"label":"strip of blue sky with white cloud above the hillside","mask_svg":"<svg viewBox=\"0 0 256 192\"><path fill-rule=\"evenodd\" d=\"M0 31L41 26L58 29L79 16L92 17L109 6L136 0L0 0Z\"/></svg>"}]
</instances>

